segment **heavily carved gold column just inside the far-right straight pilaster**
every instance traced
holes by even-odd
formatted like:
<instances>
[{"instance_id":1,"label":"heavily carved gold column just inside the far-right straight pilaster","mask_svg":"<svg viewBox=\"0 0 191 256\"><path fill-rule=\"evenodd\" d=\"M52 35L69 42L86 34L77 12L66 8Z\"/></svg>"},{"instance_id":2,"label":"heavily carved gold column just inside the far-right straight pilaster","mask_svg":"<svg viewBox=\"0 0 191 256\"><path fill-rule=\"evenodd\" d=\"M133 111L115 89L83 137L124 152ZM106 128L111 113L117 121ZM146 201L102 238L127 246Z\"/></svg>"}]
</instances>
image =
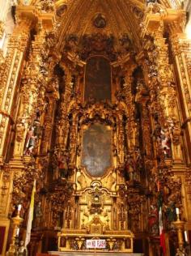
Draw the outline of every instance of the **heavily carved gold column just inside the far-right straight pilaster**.
<instances>
[{"instance_id":1,"label":"heavily carved gold column just inside the far-right straight pilaster","mask_svg":"<svg viewBox=\"0 0 191 256\"><path fill-rule=\"evenodd\" d=\"M168 64L168 45L165 44L165 39L161 37L155 37L155 44L157 49L160 49L158 58L161 87L159 100L164 108L163 112L166 118L164 126L168 128L171 136L172 159L174 163L181 163L183 156L180 146L180 120L176 103L175 79L173 78L172 67Z\"/></svg>"}]
</instances>

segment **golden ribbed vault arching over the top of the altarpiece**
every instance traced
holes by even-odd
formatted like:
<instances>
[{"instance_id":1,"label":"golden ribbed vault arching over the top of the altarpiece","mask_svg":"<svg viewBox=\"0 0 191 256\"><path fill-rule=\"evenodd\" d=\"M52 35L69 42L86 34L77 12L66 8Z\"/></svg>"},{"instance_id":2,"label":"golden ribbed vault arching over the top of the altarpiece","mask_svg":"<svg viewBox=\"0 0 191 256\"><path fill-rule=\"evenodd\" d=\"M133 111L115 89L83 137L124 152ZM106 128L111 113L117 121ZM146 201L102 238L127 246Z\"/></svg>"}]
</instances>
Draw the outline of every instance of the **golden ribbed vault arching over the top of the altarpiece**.
<instances>
[{"instance_id":1,"label":"golden ribbed vault arching over the top of the altarpiece","mask_svg":"<svg viewBox=\"0 0 191 256\"><path fill-rule=\"evenodd\" d=\"M176 0L178 5L178 1ZM36 5L40 0L31 0ZM160 0L160 3L171 8L170 0ZM135 49L140 49L140 23L146 8L144 0L57 0L57 11L61 12L59 19L58 48L62 49L64 39L68 34L77 35L104 32L116 38L127 33L134 42ZM104 28L96 28L94 19L102 15L106 21Z\"/></svg>"}]
</instances>

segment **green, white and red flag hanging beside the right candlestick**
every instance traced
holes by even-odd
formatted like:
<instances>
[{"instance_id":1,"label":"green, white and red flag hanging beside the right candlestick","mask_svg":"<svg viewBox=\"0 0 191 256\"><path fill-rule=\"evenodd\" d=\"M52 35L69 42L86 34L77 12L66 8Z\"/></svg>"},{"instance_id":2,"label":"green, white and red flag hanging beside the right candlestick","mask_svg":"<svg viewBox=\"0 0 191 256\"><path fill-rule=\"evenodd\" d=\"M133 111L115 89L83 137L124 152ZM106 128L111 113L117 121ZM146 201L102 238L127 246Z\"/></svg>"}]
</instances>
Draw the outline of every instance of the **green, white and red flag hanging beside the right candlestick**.
<instances>
[{"instance_id":1,"label":"green, white and red flag hanging beside the right candlestick","mask_svg":"<svg viewBox=\"0 0 191 256\"><path fill-rule=\"evenodd\" d=\"M159 207L159 241L160 246L163 250L163 256L166 255L166 245L165 245L165 236L163 233L163 212L162 212L162 205L163 205L163 196L161 191L159 191L158 197L158 207Z\"/></svg>"}]
</instances>

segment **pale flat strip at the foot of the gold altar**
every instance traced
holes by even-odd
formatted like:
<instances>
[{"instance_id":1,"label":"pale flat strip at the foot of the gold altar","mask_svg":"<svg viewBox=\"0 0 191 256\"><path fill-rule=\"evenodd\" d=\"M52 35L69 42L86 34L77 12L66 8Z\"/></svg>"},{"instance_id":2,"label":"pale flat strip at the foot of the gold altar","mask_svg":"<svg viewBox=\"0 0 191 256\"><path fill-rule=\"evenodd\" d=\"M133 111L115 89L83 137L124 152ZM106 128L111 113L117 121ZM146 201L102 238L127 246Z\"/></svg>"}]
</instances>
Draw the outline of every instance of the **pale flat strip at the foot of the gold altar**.
<instances>
[{"instance_id":1,"label":"pale flat strip at the foot of the gold altar","mask_svg":"<svg viewBox=\"0 0 191 256\"><path fill-rule=\"evenodd\" d=\"M57 255L57 256L111 256L111 255L118 255L118 256L144 256L144 254L123 254L123 253L117 253L117 252L111 252L111 253L107 253L107 252L58 252L58 251L50 251L49 254L51 255Z\"/></svg>"}]
</instances>

